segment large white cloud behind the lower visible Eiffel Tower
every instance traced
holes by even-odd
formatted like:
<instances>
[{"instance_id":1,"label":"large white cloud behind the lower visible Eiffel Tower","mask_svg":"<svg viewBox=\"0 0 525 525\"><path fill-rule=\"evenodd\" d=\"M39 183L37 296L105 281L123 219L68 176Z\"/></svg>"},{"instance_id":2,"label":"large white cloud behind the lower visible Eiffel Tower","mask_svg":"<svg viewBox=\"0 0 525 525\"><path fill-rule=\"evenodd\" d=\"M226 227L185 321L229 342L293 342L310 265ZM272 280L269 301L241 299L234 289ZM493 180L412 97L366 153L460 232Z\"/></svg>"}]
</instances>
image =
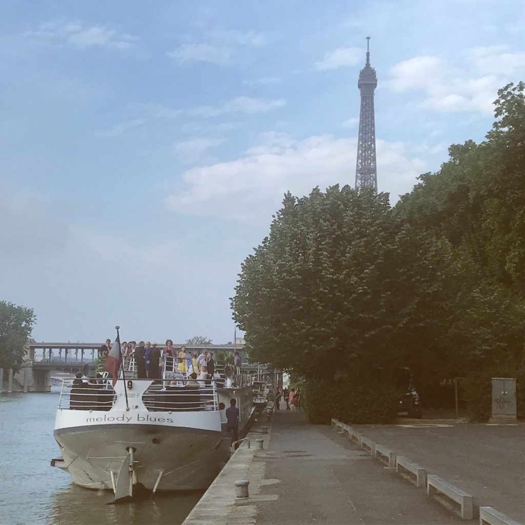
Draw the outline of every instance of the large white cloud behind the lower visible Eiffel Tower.
<instances>
[{"instance_id":1,"label":"large white cloud behind the lower visible Eiffel Tower","mask_svg":"<svg viewBox=\"0 0 525 525\"><path fill-rule=\"evenodd\" d=\"M310 137L296 141L272 132L241 158L195 167L184 174L186 189L170 195L166 204L188 214L268 224L290 190L304 195L314 186L350 184L355 179L356 142L353 139ZM423 161L407 158L402 143L377 141L380 191L393 200L412 189L425 171Z\"/></svg>"}]
</instances>

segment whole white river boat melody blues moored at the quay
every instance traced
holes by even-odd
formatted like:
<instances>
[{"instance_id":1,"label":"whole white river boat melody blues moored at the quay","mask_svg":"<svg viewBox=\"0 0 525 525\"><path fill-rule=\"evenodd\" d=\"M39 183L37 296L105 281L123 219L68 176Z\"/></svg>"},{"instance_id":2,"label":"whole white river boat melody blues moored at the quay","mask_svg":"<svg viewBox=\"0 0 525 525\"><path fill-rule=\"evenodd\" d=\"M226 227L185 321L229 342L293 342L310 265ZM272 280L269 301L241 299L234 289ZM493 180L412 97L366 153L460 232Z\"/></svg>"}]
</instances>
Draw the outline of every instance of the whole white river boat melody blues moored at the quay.
<instances>
[{"instance_id":1,"label":"whole white river boat melody blues moored at the quay","mask_svg":"<svg viewBox=\"0 0 525 525\"><path fill-rule=\"evenodd\" d=\"M188 380L177 361L164 360L159 380L137 379L133 358L114 385L104 377L64 380L54 430L61 457L51 466L81 487L113 490L116 499L138 487L211 485L232 447L226 408L235 398L242 431L254 415L253 387L227 365L213 380Z\"/></svg>"}]
</instances>

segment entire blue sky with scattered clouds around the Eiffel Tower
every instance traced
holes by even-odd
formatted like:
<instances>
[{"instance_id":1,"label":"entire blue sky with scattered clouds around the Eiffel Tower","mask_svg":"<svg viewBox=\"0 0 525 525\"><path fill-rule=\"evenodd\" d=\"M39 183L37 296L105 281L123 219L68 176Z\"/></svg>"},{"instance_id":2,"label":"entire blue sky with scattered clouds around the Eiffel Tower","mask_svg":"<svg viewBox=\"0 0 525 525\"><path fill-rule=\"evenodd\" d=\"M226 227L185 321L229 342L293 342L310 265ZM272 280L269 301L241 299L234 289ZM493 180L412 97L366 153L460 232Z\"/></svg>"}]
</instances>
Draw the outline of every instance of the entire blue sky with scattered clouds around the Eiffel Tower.
<instances>
[{"instance_id":1,"label":"entire blue sky with scattered clouds around the Eiffel Tower","mask_svg":"<svg viewBox=\"0 0 525 525\"><path fill-rule=\"evenodd\" d=\"M395 203L482 140L524 34L521 0L1 2L0 299L37 340L232 340L282 194L354 183L365 37Z\"/></svg>"}]
</instances>

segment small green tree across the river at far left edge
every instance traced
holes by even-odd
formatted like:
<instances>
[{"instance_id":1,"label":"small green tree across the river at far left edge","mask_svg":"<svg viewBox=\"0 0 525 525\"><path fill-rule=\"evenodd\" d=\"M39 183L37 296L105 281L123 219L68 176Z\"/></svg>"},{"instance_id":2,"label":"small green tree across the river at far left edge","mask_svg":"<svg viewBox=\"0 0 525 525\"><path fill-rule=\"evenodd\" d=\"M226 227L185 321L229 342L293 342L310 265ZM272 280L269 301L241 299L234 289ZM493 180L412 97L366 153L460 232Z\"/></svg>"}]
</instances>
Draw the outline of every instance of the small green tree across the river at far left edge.
<instances>
[{"instance_id":1,"label":"small green tree across the river at far left edge","mask_svg":"<svg viewBox=\"0 0 525 525\"><path fill-rule=\"evenodd\" d=\"M0 368L19 368L35 322L31 308L0 301Z\"/></svg>"}]
</instances>

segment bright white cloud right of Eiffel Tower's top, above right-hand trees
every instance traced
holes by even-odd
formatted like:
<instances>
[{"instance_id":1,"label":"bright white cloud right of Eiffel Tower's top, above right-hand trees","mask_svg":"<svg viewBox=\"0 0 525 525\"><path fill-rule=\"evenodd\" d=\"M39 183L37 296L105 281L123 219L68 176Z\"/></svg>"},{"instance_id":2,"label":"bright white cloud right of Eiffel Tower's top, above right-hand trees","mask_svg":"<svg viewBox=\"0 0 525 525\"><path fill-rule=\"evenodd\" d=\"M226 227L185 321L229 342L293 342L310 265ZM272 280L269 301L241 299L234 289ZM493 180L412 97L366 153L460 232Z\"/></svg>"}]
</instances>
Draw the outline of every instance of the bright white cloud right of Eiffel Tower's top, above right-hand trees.
<instances>
[{"instance_id":1,"label":"bright white cloud right of Eiffel Tower's top, above right-hand trees","mask_svg":"<svg viewBox=\"0 0 525 525\"><path fill-rule=\"evenodd\" d=\"M428 55L404 60L390 73L386 86L422 91L423 108L490 114L498 89L525 73L525 53L510 53L507 46L473 47L451 61Z\"/></svg>"}]
</instances>

